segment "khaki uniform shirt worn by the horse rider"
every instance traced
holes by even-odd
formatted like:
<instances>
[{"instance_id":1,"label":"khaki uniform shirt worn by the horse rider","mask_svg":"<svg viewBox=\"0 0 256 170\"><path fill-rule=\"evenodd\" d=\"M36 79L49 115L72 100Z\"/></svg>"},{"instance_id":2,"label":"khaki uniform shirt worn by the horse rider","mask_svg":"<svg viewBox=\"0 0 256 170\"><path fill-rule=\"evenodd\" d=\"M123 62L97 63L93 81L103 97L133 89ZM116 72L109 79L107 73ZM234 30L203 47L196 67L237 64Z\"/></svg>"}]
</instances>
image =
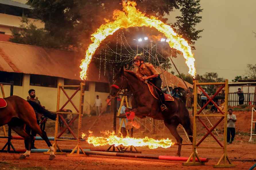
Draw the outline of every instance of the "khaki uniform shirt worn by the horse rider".
<instances>
[{"instance_id":1,"label":"khaki uniform shirt worn by the horse rider","mask_svg":"<svg viewBox=\"0 0 256 170\"><path fill-rule=\"evenodd\" d=\"M159 74L151 63L143 63L136 69L137 75L142 78L143 76L152 76ZM152 78L150 79L152 80Z\"/></svg>"}]
</instances>

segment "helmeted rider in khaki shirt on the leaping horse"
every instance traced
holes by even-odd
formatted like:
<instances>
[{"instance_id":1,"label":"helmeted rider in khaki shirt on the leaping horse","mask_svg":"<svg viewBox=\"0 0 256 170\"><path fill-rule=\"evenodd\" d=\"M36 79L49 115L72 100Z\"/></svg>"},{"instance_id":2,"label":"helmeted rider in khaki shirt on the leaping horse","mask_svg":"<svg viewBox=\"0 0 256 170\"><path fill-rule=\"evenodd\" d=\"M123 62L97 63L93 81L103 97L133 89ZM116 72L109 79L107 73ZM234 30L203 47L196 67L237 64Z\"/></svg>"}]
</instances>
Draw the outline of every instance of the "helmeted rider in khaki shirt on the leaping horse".
<instances>
[{"instance_id":1,"label":"helmeted rider in khaki shirt on the leaping horse","mask_svg":"<svg viewBox=\"0 0 256 170\"><path fill-rule=\"evenodd\" d=\"M164 104L164 94L161 90L162 80L160 78L160 74L156 71L151 63L146 63L144 61L145 58L140 55L135 56L135 58L133 59L134 64L137 66L137 75L139 76L141 81L145 81L148 79L149 82L156 86L156 91L160 96L161 110L164 111L167 109L167 107Z\"/></svg>"}]
</instances>

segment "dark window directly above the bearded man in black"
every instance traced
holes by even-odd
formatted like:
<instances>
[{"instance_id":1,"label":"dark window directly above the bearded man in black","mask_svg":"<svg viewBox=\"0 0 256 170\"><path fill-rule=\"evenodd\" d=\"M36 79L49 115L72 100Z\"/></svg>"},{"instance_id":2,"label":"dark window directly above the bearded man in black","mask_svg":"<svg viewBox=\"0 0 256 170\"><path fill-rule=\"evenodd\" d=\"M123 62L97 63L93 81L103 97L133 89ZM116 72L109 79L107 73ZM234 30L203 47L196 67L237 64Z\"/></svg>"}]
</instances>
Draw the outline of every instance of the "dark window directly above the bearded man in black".
<instances>
[{"instance_id":1,"label":"dark window directly above the bearded man in black","mask_svg":"<svg viewBox=\"0 0 256 170\"><path fill-rule=\"evenodd\" d=\"M57 88L57 77L30 74L30 86L43 86Z\"/></svg>"}]
</instances>

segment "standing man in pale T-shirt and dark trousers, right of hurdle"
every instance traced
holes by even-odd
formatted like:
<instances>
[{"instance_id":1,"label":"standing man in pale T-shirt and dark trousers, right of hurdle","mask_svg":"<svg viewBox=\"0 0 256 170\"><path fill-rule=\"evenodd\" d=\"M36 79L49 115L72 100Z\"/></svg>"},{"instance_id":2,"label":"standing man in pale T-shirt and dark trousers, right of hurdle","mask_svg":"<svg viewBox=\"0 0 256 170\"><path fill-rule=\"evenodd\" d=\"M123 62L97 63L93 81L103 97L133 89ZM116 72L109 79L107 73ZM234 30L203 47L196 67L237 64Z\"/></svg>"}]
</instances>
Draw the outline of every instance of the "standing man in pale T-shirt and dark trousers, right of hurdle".
<instances>
[{"instance_id":1,"label":"standing man in pale T-shirt and dark trousers, right of hurdle","mask_svg":"<svg viewBox=\"0 0 256 170\"><path fill-rule=\"evenodd\" d=\"M227 124L227 143L231 144L234 141L234 137L236 135L235 131L235 122L236 122L236 115L232 114L233 110L228 110L228 124ZM231 133L231 140L230 140L230 133Z\"/></svg>"}]
</instances>

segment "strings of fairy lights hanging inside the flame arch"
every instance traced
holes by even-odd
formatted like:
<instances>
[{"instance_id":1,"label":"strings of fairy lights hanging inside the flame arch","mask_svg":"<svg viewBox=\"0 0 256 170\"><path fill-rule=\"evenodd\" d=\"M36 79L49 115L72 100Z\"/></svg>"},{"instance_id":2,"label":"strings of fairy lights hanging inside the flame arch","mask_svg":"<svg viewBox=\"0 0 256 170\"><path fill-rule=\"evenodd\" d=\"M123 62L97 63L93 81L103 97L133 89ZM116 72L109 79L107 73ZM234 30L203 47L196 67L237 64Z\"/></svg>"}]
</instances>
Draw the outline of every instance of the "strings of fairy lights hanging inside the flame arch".
<instances>
[{"instance_id":1,"label":"strings of fairy lights hanging inside the flame arch","mask_svg":"<svg viewBox=\"0 0 256 170\"><path fill-rule=\"evenodd\" d=\"M100 80L100 76L102 74L102 65L104 65L104 76L106 75L106 65L107 64L122 64L122 63L128 63L129 67L131 68L133 66L133 58L137 55L137 52L129 45L127 38L124 35L124 32L122 31L121 33L117 33L117 41L116 41L116 49L115 51L110 48L106 44L106 48L100 51L100 55L96 56L94 55L93 58L96 60L99 60L99 76L98 79ZM118 44L120 45L120 50L118 52ZM129 48L129 49L128 49ZM123 49L123 51L122 51ZM152 56L156 56L156 52L154 50L149 51ZM107 57L107 54L111 54L112 56L115 56L115 60L111 60L110 58ZM146 55L147 52L140 52L139 55L142 55L146 61L150 62L150 55ZM177 57L178 59L178 65L180 66L180 58ZM153 62L153 63L152 63ZM151 63L155 65L156 60L152 60ZM166 71L164 71L166 70ZM170 69L168 66L166 66L166 69L163 70L162 76L165 76L166 78L168 77L168 72L170 70L170 73L174 72L173 67ZM114 84L114 77L115 77L115 68L113 68L112 71L112 76L113 76L113 84ZM162 77L163 78L163 77ZM163 80L163 79L162 79ZM162 81L163 85L163 81ZM179 85L179 81L177 82L177 86ZM170 74L170 81L169 81L169 86L174 86L174 75Z\"/></svg>"}]
</instances>

